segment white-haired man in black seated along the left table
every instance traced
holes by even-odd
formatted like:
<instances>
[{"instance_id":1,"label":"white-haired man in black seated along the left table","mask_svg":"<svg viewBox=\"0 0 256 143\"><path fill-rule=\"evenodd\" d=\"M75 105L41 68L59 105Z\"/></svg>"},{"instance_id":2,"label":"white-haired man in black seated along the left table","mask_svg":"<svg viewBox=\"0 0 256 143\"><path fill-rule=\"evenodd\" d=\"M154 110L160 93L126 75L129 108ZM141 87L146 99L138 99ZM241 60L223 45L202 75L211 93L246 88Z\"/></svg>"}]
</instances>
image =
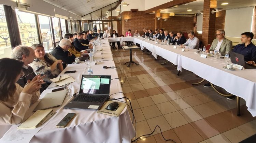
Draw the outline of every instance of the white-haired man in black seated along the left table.
<instances>
[{"instance_id":1,"label":"white-haired man in black seated along the left table","mask_svg":"<svg viewBox=\"0 0 256 143\"><path fill-rule=\"evenodd\" d=\"M50 52L57 60L62 60L63 68L66 67L66 64L71 64L75 61L75 55L68 51L70 47L71 41L63 38L59 42L59 46Z\"/></svg>"}]
</instances>

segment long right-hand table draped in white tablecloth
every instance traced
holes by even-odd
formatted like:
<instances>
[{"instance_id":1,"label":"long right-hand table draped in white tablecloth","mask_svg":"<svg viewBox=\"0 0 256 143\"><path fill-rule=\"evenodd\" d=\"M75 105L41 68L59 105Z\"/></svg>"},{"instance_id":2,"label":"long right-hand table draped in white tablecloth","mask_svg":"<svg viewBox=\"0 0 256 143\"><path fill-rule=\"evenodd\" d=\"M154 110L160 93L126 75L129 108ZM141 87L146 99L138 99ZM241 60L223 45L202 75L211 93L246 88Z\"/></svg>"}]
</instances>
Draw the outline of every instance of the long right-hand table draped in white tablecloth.
<instances>
[{"instance_id":1,"label":"long right-hand table draped in white tablecloth","mask_svg":"<svg viewBox=\"0 0 256 143\"><path fill-rule=\"evenodd\" d=\"M216 59L210 56L200 57L196 49L182 51L179 45L161 45L156 41L133 37L133 42L141 45L141 50L148 49L157 59L157 55L177 65L177 70L189 70L199 77L224 88L227 92L243 98L248 111L256 116L256 69L236 69L234 71L223 68L227 63L225 59ZM112 40L112 39L111 39ZM131 39L129 39L131 40ZM124 41L124 39L122 39Z\"/></svg>"}]
</instances>

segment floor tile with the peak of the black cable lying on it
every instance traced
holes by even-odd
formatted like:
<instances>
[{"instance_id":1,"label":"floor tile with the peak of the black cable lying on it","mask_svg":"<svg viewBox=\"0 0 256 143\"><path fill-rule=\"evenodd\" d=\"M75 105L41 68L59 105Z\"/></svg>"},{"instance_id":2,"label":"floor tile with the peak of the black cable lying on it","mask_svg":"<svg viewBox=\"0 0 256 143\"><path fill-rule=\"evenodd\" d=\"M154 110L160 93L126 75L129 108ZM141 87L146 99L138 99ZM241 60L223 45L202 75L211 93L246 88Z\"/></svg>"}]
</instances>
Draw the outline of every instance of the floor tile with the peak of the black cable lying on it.
<instances>
[{"instance_id":1,"label":"floor tile with the peak of the black cable lying on it","mask_svg":"<svg viewBox=\"0 0 256 143\"><path fill-rule=\"evenodd\" d=\"M162 132L172 129L169 123L166 121L165 117L163 116L158 116L158 117L148 119L147 123L151 131L155 129L156 125L158 125L161 128ZM157 133L160 133L160 129L158 127L156 128L153 134L157 134Z\"/></svg>"}]
</instances>

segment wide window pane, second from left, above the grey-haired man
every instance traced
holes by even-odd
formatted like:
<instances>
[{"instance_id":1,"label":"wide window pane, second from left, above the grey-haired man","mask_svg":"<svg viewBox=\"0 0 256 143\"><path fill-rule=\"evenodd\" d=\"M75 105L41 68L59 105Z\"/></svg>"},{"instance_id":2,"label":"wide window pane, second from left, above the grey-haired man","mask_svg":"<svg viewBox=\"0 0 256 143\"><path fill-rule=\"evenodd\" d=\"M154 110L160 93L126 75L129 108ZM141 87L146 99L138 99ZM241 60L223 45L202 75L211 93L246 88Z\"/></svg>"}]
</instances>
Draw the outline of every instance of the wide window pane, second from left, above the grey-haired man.
<instances>
[{"instance_id":1,"label":"wide window pane, second from left, above the grey-haired man","mask_svg":"<svg viewBox=\"0 0 256 143\"><path fill-rule=\"evenodd\" d=\"M35 23L35 15L31 13L20 12L18 9L16 9L16 17L22 45L31 46L33 44L39 43L37 25Z\"/></svg>"}]
</instances>

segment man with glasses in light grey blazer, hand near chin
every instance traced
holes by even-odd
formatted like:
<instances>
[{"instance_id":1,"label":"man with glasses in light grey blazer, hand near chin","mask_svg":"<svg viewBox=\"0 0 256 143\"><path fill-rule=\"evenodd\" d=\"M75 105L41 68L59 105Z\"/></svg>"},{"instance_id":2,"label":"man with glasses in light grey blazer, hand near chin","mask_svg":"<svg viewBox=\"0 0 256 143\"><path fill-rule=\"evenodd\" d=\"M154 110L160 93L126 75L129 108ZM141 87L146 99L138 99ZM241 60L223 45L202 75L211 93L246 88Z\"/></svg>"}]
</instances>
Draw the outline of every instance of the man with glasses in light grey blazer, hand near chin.
<instances>
[{"instance_id":1,"label":"man with glasses in light grey blazer, hand near chin","mask_svg":"<svg viewBox=\"0 0 256 143\"><path fill-rule=\"evenodd\" d=\"M225 56L225 53L232 51L232 41L225 38L225 31L223 29L218 29L216 31L216 39L213 40L212 46L209 51L214 51L215 48L217 51L221 51L221 55ZM206 50L208 52L208 50Z\"/></svg>"}]
</instances>

